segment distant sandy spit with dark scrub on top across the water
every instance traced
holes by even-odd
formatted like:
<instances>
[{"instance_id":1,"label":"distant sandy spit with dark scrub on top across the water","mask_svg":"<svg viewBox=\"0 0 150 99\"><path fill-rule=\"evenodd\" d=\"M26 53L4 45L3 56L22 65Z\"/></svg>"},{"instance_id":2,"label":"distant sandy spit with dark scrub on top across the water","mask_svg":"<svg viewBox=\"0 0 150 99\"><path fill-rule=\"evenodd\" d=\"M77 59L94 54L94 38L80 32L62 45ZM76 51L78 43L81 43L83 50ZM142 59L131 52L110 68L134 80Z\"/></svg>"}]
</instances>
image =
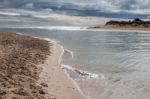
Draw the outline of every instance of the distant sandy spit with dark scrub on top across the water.
<instances>
[{"instance_id":1,"label":"distant sandy spit with dark scrub on top across the water","mask_svg":"<svg viewBox=\"0 0 150 99\"><path fill-rule=\"evenodd\" d=\"M93 26L87 29L101 30L123 30L123 31L150 31L150 21L143 21L139 18L129 21L110 20L104 26Z\"/></svg>"}]
</instances>

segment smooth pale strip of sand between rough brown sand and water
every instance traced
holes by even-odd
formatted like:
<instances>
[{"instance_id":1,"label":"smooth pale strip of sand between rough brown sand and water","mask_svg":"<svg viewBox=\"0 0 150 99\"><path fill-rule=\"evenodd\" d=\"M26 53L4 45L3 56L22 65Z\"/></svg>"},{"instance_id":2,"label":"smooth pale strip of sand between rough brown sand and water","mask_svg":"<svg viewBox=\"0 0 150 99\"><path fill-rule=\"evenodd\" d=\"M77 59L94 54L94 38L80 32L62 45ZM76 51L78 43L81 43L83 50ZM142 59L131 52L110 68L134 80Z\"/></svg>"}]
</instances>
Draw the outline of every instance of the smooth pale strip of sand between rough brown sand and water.
<instances>
[{"instance_id":1,"label":"smooth pale strip of sand between rough brown sand and water","mask_svg":"<svg viewBox=\"0 0 150 99\"><path fill-rule=\"evenodd\" d=\"M44 39L44 38L40 38L40 39ZM46 40L46 39L45 39ZM45 66L48 66L49 64L53 64L53 66L55 67L47 67L45 68L45 70L43 71L48 73L49 75L51 75L47 70L49 68L53 68L55 71L57 71L57 74L54 74L55 76L59 76L56 77L56 79L53 79L53 83L51 81L47 81L49 84L49 88L48 91L49 92L54 92L54 94L56 95L56 99L87 99L85 97L85 95L82 93L82 91L80 90L79 86L76 84L76 82L69 76L69 74L66 74L65 71L63 71L63 69L61 69L61 60L62 60L62 56L64 54L64 48L63 46L59 45L56 41L51 40L51 39L47 39L49 42L51 42L53 44L53 55L52 56L48 56L47 60L46 60L46 64ZM52 57L56 58L55 60L52 59ZM50 62L50 61L54 61L54 62ZM55 72L56 73L56 72ZM44 76L43 76L44 77ZM54 78L54 77L51 77ZM57 79L58 78L58 79ZM60 83L61 81L63 81L62 83ZM57 83L59 82L59 83ZM65 82L65 83L64 83ZM55 86L55 84L57 83L57 86ZM53 90L55 88L52 88L53 86L55 87L62 87L60 88L61 90ZM62 93L63 92L63 93ZM51 94L51 93L50 93Z\"/></svg>"}]
</instances>

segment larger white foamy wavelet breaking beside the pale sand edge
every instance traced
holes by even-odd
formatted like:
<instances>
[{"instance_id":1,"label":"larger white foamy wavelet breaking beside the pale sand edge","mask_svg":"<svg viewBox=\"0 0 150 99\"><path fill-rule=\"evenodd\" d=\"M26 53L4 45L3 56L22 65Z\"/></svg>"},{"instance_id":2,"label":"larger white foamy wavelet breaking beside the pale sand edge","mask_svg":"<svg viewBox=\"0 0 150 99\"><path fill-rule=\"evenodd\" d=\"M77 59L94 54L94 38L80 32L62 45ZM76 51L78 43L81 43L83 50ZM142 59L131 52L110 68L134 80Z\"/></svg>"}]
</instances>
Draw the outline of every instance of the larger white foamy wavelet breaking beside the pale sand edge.
<instances>
[{"instance_id":1,"label":"larger white foamy wavelet breaking beside the pale sand edge","mask_svg":"<svg viewBox=\"0 0 150 99\"><path fill-rule=\"evenodd\" d=\"M79 70L79 69L76 69L76 68L71 67L69 65L62 64L61 67L62 67L62 69L71 70L71 71L77 73L78 75L80 75L82 77L90 77L90 78L94 78L94 79L99 77L98 74L90 73L88 71Z\"/></svg>"}]
</instances>

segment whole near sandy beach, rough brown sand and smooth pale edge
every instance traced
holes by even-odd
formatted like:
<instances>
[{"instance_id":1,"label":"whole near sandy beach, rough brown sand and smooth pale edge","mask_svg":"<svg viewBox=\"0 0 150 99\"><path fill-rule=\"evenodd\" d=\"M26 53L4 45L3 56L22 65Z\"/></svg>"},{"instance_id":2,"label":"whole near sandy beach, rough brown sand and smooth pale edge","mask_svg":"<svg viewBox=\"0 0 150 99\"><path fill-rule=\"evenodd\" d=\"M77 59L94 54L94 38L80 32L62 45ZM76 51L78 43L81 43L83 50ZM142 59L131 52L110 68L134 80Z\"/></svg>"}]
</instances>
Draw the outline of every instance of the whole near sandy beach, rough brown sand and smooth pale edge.
<instances>
[{"instance_id":1,"label":"whole near sandy beach, rough brown sand and smooth pale edge","mask_svg":"<svg viewBox=\"0 0 150 99\"><path fill-rule=\"evenodd\" d=\"M1 99L85 99L60 67L56 42L0 33Z\"/></svg>"}]
</instances>

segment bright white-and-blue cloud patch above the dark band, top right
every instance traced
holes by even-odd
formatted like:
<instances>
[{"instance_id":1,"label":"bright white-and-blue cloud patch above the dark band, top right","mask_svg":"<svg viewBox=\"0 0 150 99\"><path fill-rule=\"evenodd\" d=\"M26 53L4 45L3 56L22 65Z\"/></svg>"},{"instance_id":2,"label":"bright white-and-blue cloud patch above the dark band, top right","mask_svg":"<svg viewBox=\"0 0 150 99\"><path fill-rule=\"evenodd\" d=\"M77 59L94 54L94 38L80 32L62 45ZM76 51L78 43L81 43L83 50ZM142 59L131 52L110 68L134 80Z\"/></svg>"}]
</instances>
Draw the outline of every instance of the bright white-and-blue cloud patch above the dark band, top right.
<instances>
[{"instance_id":1,"label":"bright white-and-blue cloud patch above the dark band, top right","mask_svg":"<svg viewBox=\"0 0 150 99\"><path fill-rule=\"evenodd\" d=\"M140 11L150 10L150 0L58 0L58 2L77 4L87 9L104 11Z\"/></svg>"}]
</instances>

